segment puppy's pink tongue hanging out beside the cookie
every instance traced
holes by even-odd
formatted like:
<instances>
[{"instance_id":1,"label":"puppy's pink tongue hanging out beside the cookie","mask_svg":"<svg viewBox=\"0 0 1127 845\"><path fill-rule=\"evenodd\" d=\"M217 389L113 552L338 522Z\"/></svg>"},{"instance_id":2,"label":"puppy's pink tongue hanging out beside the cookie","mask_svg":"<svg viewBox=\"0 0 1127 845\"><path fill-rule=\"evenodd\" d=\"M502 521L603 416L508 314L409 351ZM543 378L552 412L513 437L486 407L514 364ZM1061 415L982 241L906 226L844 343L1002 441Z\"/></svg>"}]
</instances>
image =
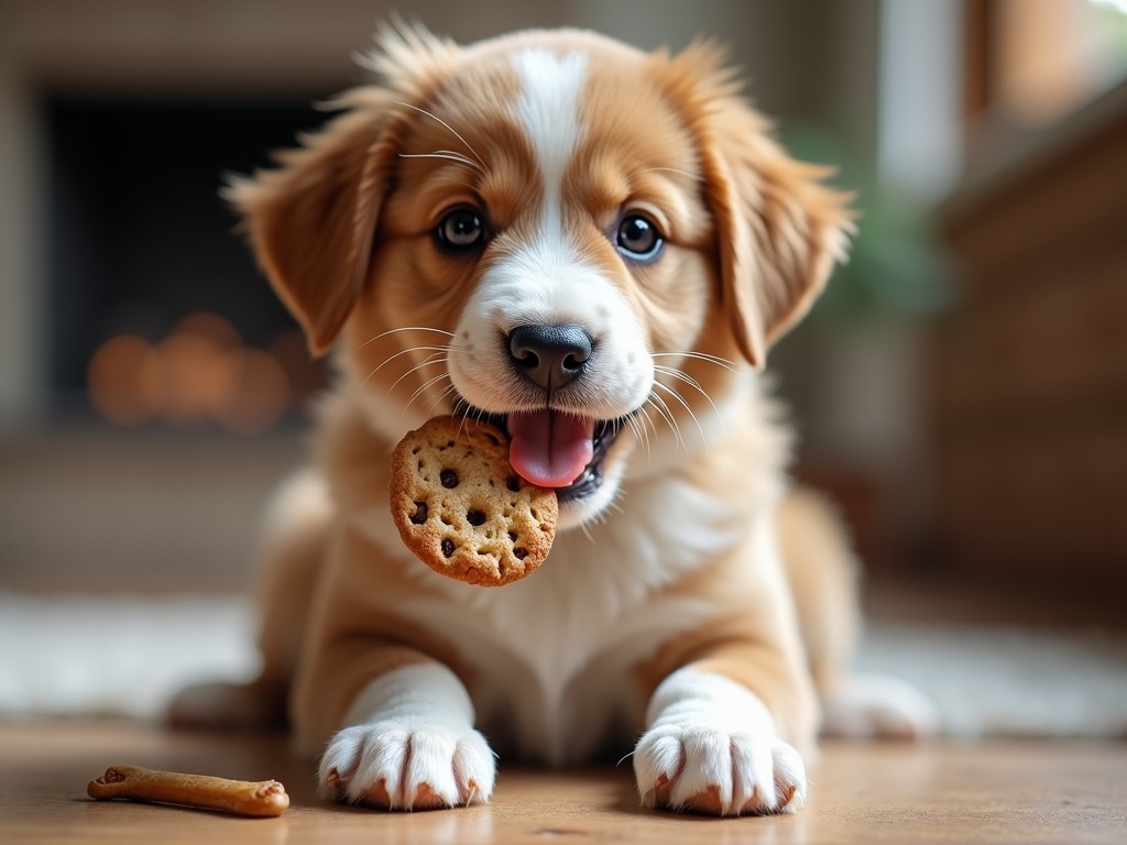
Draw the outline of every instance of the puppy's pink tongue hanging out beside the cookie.
<instances>
[{"instance_id":1,"label":"puppy's pink tongue hanging out beside the cookie","mask_svg":"<svg viewBox=\"0 0 1127 845\"><path fill-rule=\"evenodd\" d=\"M567 487L594 457L595 420L554 411L509 413L508 461L536 487Z\"/></svg>"}]
</instances>

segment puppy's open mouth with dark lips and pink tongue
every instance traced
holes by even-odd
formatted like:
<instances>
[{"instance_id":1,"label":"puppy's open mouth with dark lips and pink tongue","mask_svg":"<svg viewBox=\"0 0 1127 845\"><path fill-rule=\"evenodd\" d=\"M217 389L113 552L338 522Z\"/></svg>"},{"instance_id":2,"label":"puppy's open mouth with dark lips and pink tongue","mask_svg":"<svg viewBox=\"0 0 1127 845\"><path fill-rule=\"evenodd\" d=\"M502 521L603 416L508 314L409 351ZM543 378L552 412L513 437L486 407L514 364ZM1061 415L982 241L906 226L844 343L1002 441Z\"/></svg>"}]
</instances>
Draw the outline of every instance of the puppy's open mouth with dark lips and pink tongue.
<instances>
[{"instance_id":1,"label":"puppy's open mouth with dark lips and pink tongue","mask_svg":"<svg viewBox=\"0 0 1127 845\"><path fill-rule=\"evenodd\" d=\"M509 463L526 481L552 488L561 504L582 499L603 483L603 462L627 418L597 420L544 409L490 413L459 398L454 415L507 432Z\"/></svg>"}]
</instances>

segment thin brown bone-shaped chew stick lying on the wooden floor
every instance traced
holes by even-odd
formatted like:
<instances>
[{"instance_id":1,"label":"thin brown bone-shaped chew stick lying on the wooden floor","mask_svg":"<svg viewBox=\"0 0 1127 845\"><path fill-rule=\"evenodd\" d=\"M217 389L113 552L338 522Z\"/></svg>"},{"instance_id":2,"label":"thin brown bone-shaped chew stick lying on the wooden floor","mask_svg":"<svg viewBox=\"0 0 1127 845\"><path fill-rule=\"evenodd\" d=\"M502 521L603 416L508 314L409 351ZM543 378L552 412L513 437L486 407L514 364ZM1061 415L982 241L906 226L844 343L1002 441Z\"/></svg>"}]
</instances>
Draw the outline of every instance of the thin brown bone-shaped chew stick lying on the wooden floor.
<instances>
[{"instance_id":1,"label":"thin brown bone-shaped chew stick lying on the wooden floor","mask_svg":"<svg viewBox=\"0 0 1127 845\"><path fill-rule=\"evenodd\" d=\"M125 798L239 816L281 816L290 807L290 795L277 781L229 781L141 766L110 766L101 777L90 781L86 793L99 801Z\"/></svg>"}]
</instances>

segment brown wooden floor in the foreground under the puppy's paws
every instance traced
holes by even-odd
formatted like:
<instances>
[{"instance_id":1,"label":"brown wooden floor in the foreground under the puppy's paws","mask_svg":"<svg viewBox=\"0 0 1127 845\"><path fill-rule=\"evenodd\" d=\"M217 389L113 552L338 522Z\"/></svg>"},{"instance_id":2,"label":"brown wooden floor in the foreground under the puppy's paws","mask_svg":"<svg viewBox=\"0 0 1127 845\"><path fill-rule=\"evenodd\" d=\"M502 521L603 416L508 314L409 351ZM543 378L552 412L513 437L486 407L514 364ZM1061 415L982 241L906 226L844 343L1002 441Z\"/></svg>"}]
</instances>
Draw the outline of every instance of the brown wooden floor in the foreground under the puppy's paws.
<instances>
[{"instance_id":1,"label":"brown wooden floor in the foreground under the puppy's paws","mask_svg":"<svg viewBox=\"0 0 1127 845\"><path fill-rule=\"evenodd\" d=\"M112 764L281 780L279 818L98 803ZM1127 744L988 742L825 748L796 816L702 819L638 808L629 765L548 773L502 766L490 804L379 813L323 803L278 737L170 733L119 722L0 723L0 843L1121 843Z\"/></svg>"}]
</instances>

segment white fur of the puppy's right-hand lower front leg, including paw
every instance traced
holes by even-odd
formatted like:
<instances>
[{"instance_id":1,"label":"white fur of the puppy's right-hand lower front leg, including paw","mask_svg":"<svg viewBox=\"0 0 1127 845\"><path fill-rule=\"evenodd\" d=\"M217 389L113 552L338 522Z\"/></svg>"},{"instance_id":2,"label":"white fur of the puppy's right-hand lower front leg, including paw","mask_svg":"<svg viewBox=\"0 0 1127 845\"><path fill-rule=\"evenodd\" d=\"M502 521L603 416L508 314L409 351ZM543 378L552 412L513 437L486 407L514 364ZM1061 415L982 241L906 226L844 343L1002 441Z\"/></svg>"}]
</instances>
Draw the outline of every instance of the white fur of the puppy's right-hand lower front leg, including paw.
<instances>
[{"instance_id":1,"label":"white fur of the puppy's right-hand lower front leg, including paw","mask_svg":"<svg viewBox=\"0 0 1127 845\"><path fill-rule=\"evenodd\" d=\"M654 692L646 721L633 756L646 806L713 809L722 816L801 807L801 757L775 737L763 702L739 684L680 669ZM713 801L718 806L711 807Z\"/></svg>"}]
</instances>

